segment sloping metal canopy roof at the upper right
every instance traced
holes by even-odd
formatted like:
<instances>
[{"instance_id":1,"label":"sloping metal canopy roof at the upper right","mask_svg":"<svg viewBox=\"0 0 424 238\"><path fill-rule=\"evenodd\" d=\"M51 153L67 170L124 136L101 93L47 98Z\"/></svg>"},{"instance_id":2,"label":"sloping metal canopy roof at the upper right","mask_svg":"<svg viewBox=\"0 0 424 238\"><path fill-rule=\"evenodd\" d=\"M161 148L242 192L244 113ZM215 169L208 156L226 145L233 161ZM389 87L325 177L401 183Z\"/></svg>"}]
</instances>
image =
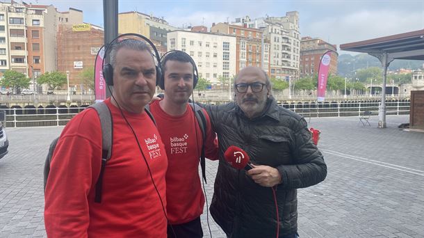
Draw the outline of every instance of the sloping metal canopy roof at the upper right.
<instances>
[{"instance_id":1,"label":"sloping metal canopy roof at the upper right","mask_svg":"<svg viewBox=\"0 0 424 238\"><path fill-rule=\"evenodd\" d=\"M371 55L386 53L391 59L424 60L424 29L347 43L340 49Z\"/></svg>"}]
</instances>

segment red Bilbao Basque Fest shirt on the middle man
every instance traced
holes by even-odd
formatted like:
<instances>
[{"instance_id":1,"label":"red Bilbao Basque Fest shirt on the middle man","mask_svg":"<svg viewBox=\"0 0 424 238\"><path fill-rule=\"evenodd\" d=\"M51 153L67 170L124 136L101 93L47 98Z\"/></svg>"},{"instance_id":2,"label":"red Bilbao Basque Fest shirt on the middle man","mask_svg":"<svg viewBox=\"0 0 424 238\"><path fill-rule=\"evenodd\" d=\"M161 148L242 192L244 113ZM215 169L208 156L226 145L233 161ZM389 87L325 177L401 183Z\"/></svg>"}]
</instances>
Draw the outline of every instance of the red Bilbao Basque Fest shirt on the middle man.
<instances>
[{"instance_id":1,"label":"red Bilbao Basque Fest shirt on the middle man","mask_svg":"<svg viewBox=\"0 0 424 238\"><path fill-rule=\"evenodd\" d=\"M170 116L159 105L150 104L168 155L166 197L168 219L171 224L193 221L203 212L204 194L200 186L199 161L203 135L190 105L182 116ZM218 159L218 143L206 115L205 157ZM196 135L197 134L197 135ZM196 141L197 138L197 141Z\"/></svg>"}]
</instances>

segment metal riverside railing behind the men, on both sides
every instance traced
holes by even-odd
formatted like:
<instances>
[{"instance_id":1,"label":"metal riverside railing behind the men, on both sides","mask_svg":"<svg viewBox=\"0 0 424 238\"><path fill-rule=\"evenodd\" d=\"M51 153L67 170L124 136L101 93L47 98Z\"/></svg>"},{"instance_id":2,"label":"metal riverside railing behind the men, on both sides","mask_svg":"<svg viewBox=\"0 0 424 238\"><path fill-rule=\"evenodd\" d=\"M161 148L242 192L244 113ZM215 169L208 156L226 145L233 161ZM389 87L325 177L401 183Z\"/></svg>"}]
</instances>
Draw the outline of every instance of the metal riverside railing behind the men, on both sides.
<instances>
[{"instance_id":1,"label":"metal riverside railing behind the men, on both sides","mask_svg":"<svg viewBox=\"0 0 424 238\"><path fill-rule=\"evenodd\" d=\"M380 102L325 102L282 104L304 118L361 116L364 111L378 115ZM85 107L47 106L45 108L0 109L5 111L6 127L38 127L66 125ZM386 115L409 114L409 102L386 102Z\"/></svg>"}]
</instances>

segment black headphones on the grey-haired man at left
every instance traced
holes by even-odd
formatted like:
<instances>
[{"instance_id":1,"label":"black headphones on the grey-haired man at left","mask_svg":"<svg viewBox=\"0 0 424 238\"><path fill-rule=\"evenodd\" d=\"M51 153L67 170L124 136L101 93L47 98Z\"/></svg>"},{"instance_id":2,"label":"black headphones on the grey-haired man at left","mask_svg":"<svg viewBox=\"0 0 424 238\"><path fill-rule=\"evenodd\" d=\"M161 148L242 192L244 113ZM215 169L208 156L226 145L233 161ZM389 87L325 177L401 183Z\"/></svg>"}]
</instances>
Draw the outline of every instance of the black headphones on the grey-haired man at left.
<instances>
[{"instance_id":1,"label":"black headphones on the grey-haired man at left","mask_svg":"<svg viewBox=\"0 0 424 238\"><path fill-rule=\"evenodd\" d=\"M145 42L147 42L153 49L154 51L154 56L156 57L156 61L158 63L158 65L155 65L156 68L156 86L158 85L159 81L161 80L162 77L162 70L161 70L161 57L159 56L158 50L156 49L156 47L154 46L153 42L150 41L148 38L146 38L143 35L140 34L136 34L136 33L126 33L126 34L122 34L117 36L117 38L113 39L111 41L111 43L108 44L108 46L106 47L105 51L104 51L104 57L103 57L103 61L102 61L102 65L103 65L103 77L104 80L106 81L106 84L109 86L113 86L113 67L111 65L111 63L104 63L104 59L106 58L106 54L108 53L108 49L114 45L114 44L119 44L119 40L122 37L125 36L136 36L138 38L142 38L143 40L145 40ZM124 39L124 40L129 40L131 38L128 39ZM122 41L124 41L122 40ZM120 42L122 42L120 41Z\"/></svg>"}]
</instances>

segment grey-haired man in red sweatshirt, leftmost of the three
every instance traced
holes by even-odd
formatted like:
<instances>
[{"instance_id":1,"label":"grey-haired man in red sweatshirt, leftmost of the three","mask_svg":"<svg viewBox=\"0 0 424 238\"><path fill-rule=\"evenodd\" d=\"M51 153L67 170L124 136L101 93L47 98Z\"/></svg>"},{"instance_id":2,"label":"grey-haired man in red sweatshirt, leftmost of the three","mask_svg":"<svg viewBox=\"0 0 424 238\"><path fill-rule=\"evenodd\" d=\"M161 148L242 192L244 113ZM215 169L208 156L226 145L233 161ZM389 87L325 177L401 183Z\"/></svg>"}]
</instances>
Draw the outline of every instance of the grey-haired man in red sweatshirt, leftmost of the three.
<instances>
[{"instance_id":1,"label":"grey-haired man in red sweatshirt, leftmost of the three","mask_svg":"<svg viewBox=\"0 0 424 238\"><path fill-rule=\"evenodd\" d=\"M97 112L85 109L67 123L51 158L44 223L49 237L166 237L165 147L145 105L156 68L140 40L112 45L114 90L105 101L113 121L112 156L95 203L102 136ZM108 83L110 84L110 83Z\"/></svg>"}]
</instances>

